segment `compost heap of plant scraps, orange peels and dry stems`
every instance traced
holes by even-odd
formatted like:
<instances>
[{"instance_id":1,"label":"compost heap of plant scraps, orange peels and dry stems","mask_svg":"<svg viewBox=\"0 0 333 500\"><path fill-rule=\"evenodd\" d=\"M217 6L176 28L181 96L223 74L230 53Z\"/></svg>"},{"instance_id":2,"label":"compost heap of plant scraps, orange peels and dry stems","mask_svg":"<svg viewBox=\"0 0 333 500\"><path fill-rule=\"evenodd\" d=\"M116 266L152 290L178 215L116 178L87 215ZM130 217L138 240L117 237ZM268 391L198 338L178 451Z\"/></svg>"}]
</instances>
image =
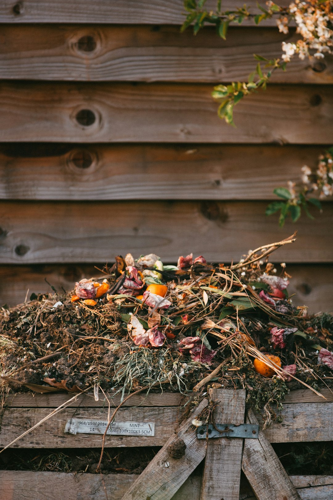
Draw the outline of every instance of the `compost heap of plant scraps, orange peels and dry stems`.
<instances>
[{"instance_id":1,"label":"compost heap of plant scraps, orange peels and dry stems","mask_svg":"<svg viewBox=\"0 0 333 500\"><path fill-rule=\"evenodd\" d=\"M3 307L3 393L245 388L270 419L291 388L332 385L333 316L294 307L285 264L268 261L292 241L230 266L128 253L68 293Z\"/></svg>"}]
</instances>

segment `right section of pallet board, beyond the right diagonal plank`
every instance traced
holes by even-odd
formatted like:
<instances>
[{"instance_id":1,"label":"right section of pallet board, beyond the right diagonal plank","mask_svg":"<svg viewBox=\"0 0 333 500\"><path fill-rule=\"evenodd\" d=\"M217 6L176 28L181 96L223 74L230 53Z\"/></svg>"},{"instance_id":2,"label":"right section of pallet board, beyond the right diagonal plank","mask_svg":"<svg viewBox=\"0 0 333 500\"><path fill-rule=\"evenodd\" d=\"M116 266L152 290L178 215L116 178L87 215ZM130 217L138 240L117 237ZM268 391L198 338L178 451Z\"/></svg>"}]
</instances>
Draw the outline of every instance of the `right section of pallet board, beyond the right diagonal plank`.
<instances>
[{"instance_id":1,"label":"right section of pallet board, beyond the right diagonal plank","mask_svg":"<svg viewBox=\"0 0 333 500\"><path fill-rule=\"evenodd\" d=\"M265 429L270 442L332 441L333 403L288 403L281 412L282 423ZM262 424L260 415L259 423Z\"/></svg>"}]
</instances>

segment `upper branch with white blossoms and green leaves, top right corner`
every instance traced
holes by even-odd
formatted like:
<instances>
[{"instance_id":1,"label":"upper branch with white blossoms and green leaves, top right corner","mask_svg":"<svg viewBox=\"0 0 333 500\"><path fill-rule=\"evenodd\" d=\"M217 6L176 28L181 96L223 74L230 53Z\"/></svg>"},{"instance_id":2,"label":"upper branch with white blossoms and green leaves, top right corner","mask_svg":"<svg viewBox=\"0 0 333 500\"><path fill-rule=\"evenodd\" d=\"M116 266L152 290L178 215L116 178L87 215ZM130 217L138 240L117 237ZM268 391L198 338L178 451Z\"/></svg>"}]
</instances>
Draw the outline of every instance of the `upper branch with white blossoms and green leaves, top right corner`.
<instances>
[{"instance_id":1,"label":"upper branch with white blossoms and green leaves, top right corner","mask_svg":"<svg viewBox=\"0 0 333 500\"><path fill-rule=\"evenodd\" d=\"M222 0L217 0L215 12L204 9L206 0L184 0L184 7L188 12L181 30L193 24L193 32L197 34L205 23L215 24L218 34L226 39L230 23L242 24L244 19L252 18L256 24L264 19L278 15L277 25L280 32L288 33L289 24L292 20L296 22L297 33L302 39L296 43L282 42L282 55L276 59L266 59L261 55L254 54L255 59L265 62L265 67L271 69L264 73L261 63L257 64L256 70L250 74L247 82L232 82L230 85L218 85L214 87L213 97L220 101L218 115L220 118L233 126L234 106L243 97L259 89L266 89L272 72L276 69L286 69L286 64L291 61L295 54L301 59L313 57L321 59L325 53L333 53L333 9L332 0L295 0L289 7L281 7L272 0L266 2L267 8L259 5L260 14L251 13L246 5L235 10L221 10ZM312 53L314 52L314 53ZM257 81L254 77L258 74Z\"/></svg>"}]
</instances>

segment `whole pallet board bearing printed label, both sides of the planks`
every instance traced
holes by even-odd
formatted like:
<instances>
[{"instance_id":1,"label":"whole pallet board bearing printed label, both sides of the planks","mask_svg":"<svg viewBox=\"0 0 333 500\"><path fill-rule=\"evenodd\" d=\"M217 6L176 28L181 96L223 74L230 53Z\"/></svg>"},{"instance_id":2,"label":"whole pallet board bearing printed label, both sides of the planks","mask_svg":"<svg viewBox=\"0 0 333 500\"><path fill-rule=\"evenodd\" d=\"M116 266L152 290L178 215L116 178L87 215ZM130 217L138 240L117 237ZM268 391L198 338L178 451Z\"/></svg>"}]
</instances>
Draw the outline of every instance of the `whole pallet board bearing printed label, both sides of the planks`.
<instances>
[{"instance_id":1,"label":"whole pallet board bearing printed label, both sides of the planks","mask_svg":"<svg viewBox=\"0 0 333 500\"><path fill-rule=\"evenodd\" d=\"M5 446L50 412L49 408L6 408L2 418L0 446ZM101 435L64 434L68 418L107 419L107 407L66 408L13 444L15 448L100 447ZM273 422L264 434L270 442L333 440L333 403L285 403L282 423ZM257 415L262 425L262 418ZM155 422L155 436L108 435L106 446L162 446L174 432L180 418L179 408L127 407L117 412L117 421Z\"/></svg>"}]
</instances>

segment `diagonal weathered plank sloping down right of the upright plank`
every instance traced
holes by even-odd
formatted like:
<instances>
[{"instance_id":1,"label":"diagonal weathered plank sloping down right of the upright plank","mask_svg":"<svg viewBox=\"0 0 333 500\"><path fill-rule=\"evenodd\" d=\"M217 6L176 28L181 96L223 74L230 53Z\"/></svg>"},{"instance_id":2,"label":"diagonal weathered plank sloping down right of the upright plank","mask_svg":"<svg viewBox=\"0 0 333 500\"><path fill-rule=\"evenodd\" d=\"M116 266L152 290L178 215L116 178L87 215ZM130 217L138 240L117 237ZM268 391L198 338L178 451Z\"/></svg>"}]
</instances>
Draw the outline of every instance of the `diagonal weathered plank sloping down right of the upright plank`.
<instances>
[{"instance_id":1,"label":"diagonal weathered plank sloping down right of the upright plank","mask_svg":"<svg viewBox=\"0 0 333 500\"><path fill-rule=\"evenodd\" d=\"M258 424L252 410L247 423ZM273 447L259 431L259 439L245 439L242 469L258 500L300 500Z\"/></svg>"}]
</instances>

